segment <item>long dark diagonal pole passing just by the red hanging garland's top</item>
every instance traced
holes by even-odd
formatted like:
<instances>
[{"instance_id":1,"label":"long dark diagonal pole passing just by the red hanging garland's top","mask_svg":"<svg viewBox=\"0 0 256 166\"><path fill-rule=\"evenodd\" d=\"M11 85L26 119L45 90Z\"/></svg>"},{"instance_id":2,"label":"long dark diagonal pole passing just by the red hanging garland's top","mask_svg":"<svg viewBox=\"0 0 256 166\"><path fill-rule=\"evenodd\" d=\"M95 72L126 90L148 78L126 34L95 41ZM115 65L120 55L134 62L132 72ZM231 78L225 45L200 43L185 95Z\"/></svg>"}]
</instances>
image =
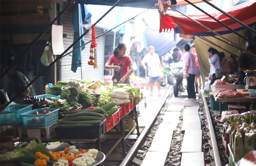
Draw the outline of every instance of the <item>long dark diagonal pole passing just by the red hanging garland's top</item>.
<instances>
[{"instance_id":1,"label":"long dark diagonal pole passing just by the red hanging garland's top","mask_svg":"<svg viewBox=\"0 0 256 166\"><path fill-rule=\"evenodd\" d=\"M118 0L100 19L98 19L95 23L94 26L101 20L103 19L117 4L119 4L122 0ZM30 83L28 83L28 85L26 87L21 88L20 92L18 92L18 94L16 94L12 100L10 100L5 106L8 106L11 102L13 102L13 100L18 97L21 93L24 92L25 89L27 89L30 85L32 85L36 79L38 79L41 75L43 75L43 73L45 73L54 63L56 63L58 60L60 60L60 58L66 53L68 52L68 50L70 48L72 48L80 39L82 39L82 37L84 37L85 34L87 34L89 32L89 30L87 29L84 34L82 34L78 39L76 39L75 42L73 42L62 54L60 54L60 56L58 56L51 64L49 64L49 66L47 66L44 71L42 71L39 75L37 75Z\"/></svg>"}]
</instances>

